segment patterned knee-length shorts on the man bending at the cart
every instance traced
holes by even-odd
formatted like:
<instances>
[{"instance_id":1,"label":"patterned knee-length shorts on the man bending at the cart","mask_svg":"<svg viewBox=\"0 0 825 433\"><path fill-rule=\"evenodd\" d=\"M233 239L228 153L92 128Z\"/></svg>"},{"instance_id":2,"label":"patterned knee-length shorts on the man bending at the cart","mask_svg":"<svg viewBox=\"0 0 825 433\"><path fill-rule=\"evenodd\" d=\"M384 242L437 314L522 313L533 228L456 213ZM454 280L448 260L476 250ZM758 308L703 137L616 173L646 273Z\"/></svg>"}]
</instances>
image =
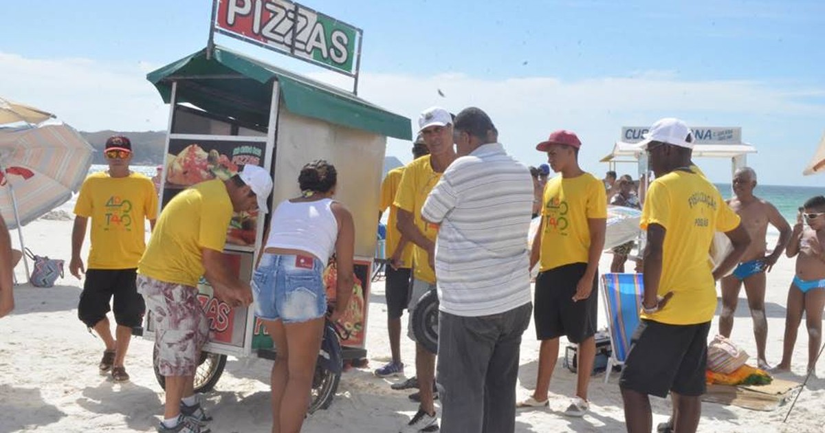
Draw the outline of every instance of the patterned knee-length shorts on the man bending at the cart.
<instances>
[{"instance_id":1,"label":"patterned knee-length shorts on the man bending at the cart","mask_svg":"<svg viewBox=\"0 0 825 433\"><path fill-rule=\"evenodd\" d=\"M198 302L198 289L138 275L150 329L155 333L154 364L163 376L191 376L200 348L209 338L209 322Z\"/></svg>"}]
</instances>

